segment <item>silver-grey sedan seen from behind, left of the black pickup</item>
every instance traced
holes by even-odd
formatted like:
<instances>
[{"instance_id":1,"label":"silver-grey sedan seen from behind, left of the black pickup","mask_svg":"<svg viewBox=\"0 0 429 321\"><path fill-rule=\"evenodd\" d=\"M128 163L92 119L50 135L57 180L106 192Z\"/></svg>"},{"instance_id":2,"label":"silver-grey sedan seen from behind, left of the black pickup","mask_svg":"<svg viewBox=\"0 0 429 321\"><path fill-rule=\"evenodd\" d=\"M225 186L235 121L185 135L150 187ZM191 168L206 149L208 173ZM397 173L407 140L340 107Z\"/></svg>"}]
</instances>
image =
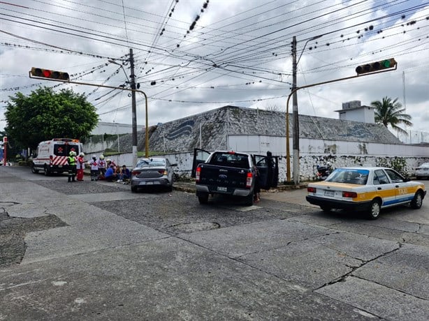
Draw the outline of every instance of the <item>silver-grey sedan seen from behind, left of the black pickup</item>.
<instances>
[{"instance_id":1,"label":"silver-grey sedan seen from behind, left of the black pickup","mask_svg":"<svg viewBox=\"0 0 429 321\"><path fill-rule=\"evenodd\" d=\"M141 158L131 171L131 191L138 188L166 188L173 190L173 167L167 158L151 157Z\"/></svg>"}]
</instances>

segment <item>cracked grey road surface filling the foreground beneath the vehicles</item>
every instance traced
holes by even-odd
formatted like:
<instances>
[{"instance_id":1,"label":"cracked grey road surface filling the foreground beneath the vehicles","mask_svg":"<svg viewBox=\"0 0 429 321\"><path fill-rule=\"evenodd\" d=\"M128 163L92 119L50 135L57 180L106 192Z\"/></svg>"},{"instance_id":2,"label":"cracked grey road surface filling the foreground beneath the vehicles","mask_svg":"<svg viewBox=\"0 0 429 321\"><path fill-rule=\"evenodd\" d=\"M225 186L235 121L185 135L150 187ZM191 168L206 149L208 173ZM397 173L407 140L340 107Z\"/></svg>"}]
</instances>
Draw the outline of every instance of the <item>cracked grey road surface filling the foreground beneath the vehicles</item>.
<instances>
[{"instance_id":1,"label":"cracked grey road surface filling the foreground beneath the vehicles","mask_svg":"<svg viewBox=\"0 0 429 321\"><path fill-rule=\"evenodd\" d=\"M0 167L0 320L429 320L428 199L367 221L177 187Z\"/></svg>"}]
</instances>

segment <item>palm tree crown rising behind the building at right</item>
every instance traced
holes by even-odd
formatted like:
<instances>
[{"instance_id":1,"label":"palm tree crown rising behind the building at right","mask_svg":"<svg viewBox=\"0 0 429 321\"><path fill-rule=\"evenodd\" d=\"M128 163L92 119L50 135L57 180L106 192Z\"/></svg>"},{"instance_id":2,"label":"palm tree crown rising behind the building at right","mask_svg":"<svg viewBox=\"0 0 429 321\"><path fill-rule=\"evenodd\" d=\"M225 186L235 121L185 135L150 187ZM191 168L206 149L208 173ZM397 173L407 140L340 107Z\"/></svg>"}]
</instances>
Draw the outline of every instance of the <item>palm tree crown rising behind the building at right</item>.
<instances>
[{"instance_id":1,"label":"palm tree crown rising behind the building at right","mask_svg":"<svg viewBox=\"0 0 429 321\"><path fill-rule=\"evenodd\" d=\"M406 130L400 128L398 125L404 124L412 126L411 116L404 114L405 108L398 102L398 98L392 100L391 98L384 97L383 100L375 100L371 103L375 107L375 122L383 124L384 126L390 125L393 130L399 133L407 133Z\"/></svg>"}]
</instances>

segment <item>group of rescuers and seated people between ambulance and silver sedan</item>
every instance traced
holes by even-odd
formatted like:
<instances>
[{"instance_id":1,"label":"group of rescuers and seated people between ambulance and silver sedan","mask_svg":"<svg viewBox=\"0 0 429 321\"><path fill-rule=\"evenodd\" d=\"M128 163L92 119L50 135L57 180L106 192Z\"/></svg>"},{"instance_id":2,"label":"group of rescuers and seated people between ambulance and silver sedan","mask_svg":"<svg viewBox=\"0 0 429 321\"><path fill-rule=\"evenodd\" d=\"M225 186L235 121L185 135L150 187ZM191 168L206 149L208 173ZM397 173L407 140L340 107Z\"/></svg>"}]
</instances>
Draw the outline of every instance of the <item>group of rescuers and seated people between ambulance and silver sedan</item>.
<instances>
[{"instance_id":1,"label":"group of rescuers and seated people between ambulance and silver sedan","mask_svg":"<svg viewBox=\"0 0 429 321\"><path fill-rule=\"evenodd\" d=\"M75 151L71 151L68 158L68 182L75 181L77 176L78 181L83 181L83 170L85 170L85 154L80 153L76 157ZM126 165L119 167L114 161L104 160L104 156L100 155L97 159L95 155L92 160L89 160L88 165L91 167L91 181L106 180L106 181L129 181L131 173Z\"/></svg>"}]
</instances>

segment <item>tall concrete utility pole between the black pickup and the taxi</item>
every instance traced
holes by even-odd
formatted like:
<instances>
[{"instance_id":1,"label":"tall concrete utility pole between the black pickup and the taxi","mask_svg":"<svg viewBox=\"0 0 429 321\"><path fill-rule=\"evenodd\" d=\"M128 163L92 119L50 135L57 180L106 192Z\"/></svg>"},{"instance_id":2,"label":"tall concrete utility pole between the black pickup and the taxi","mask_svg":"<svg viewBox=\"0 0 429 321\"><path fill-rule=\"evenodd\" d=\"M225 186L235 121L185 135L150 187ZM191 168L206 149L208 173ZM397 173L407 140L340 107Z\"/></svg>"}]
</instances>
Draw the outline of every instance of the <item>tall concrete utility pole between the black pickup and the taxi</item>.
<instances>
[{"instance_id":1,"label":"tall concrete utility pole between the black pickup and the taxi","mask_svg":"<svg viewBox=\"0 0 429 321\"><path fill-rule=\"evenodd\" d=\"M296 36L292 40L292 118L293 118L293 183L299 184L299 121L298 121L298 95L296 94Z\"/></svg>"}]
</instances>

